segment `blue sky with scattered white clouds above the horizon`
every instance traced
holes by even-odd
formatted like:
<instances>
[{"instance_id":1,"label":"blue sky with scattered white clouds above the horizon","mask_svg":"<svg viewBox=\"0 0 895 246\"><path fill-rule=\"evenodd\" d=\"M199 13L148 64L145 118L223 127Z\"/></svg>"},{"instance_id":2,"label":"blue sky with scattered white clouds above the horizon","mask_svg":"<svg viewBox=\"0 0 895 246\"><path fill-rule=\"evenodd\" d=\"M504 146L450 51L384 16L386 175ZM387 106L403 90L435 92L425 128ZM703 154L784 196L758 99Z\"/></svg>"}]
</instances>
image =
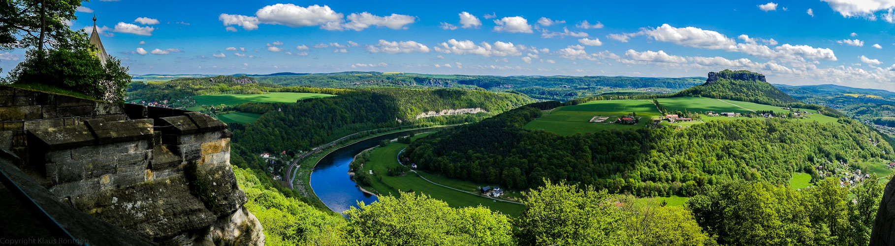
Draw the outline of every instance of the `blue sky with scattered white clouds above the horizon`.
<instances>
[{"instance_id":1,"label":"blue sky with scattered white clouds above the horizon","mask_svg":"<svg viewBox=\"0 0 895 246\"><path fill-rule=\"evenodd\" d=\"M96 1L72 29L96 14L107 52L136 74L686 77L729 68L773 83L895 89L895 0L581 2ZM0 53L0 67L22 54Z\"/></svg>"}]
</instances>

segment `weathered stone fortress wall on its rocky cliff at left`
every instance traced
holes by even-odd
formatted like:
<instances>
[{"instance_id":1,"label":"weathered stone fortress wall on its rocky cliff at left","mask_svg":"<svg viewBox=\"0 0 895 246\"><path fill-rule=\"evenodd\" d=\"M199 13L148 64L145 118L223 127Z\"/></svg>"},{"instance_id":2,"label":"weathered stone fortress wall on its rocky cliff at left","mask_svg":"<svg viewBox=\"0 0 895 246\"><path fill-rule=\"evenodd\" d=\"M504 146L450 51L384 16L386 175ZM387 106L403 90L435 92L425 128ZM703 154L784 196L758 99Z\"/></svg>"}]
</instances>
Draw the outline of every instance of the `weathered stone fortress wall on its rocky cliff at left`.
<instances>
[{"instance_id":1,"label":"weathered stone fortress wall on its rocky cliff at left","mask_svg":"<svg viewBox=\"0 0 895 246\"><path fill-rule=\"evenodd\" d=\"M263 244L229 164L226 124L198 112L15 90L12 97L31 100L0 106L4 134L14 135L9 148L23 156L17 167L63 204L160 244ZM45 116L62 107L82 108Z\"/></svg>"}]
</instances>

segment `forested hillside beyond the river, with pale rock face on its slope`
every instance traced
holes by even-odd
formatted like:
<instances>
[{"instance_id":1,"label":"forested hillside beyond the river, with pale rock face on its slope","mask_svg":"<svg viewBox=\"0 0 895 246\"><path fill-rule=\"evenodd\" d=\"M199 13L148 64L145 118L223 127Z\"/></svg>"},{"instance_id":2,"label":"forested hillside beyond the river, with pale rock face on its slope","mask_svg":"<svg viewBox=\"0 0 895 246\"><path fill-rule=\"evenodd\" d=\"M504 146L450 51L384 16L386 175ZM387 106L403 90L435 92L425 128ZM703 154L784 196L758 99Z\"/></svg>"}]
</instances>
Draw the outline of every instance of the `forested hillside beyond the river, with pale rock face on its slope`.
<instances>
[{"instance_id":1,"label":"forested hillside beyond the river, with pale rock face on its slope","mask_svg":"<svg viewBox=\"0 0 895 246\"><path fill-rule=\"evenodd\" d=\"M264 114L234 125L234 143L254 152L310 150L358 131L401 125L466 123L533 102L509 93L460 89L360 89L334 98L294 104L245 104L239 111ZM488 113L416 119L427 111L482 108ZM400 120L400 121L399 121Z\"/></svg>"}]
</instances>

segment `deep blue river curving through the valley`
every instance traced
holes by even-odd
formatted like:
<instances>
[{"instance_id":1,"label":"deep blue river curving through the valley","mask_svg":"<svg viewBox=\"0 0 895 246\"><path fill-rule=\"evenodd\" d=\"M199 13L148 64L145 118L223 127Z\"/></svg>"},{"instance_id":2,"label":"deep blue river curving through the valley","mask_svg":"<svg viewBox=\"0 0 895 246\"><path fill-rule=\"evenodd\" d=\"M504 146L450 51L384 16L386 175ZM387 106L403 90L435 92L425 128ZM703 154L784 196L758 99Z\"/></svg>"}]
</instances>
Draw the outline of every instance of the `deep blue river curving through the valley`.
<instances>
[{"instance_id":1,"label":"deep blue river curving through the valley","mask_svg":"<svg viewBox=\"0 0 895 246\"><path fill-rule=\"evenodd\" d=\"M439 128L440 129L440 128ZM326 157L320 158L314 171L311 172L311 189L317 197L326 204L329 209L338 213L345 212L348 208L356 207L358 201L370 204L376 201L376 196L365 193L357 187L348 174L349 164L363 149L372 148L381 140L392 140L410 133L433 131L433 129L417 129L399 131L386 135L361 140L354 144L338 148L330 152Z\"/></svg>"}]
</instances>

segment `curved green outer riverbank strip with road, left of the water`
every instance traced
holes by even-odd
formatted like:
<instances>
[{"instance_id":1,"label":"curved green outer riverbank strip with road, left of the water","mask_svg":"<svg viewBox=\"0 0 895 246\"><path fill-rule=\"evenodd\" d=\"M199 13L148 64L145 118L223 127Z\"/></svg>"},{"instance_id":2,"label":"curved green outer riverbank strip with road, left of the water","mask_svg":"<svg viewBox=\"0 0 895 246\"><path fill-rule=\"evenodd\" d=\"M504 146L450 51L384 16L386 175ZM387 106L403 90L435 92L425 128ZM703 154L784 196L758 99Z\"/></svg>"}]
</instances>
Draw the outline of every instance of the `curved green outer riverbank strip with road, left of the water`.
<instances>
[{"instance_id":1,"label":"curved green outer riverbank strip with road, left of the water","mask_svg":"<svg viewBox=\"0 0 895 246\"><path fill-rule=\"evenodd\" d=\"M382 131L378 133L374 133L370 137L362 138L359 137L357 140L346 140L343 143L338 143L335 145L328 146L327 148L319 149L319 151L308 155L307 157L302 158L296 163L296 167L293 172L295 173L295 178L293 180L293 187L295 191L298 191L304 198L308 199L308 201L315 208L318 208L322 211L328 211L333 214L338 214L337 212L330 209L320 197L317 196L317 193L311 188L311 173L313 173L314 168L320 163L320 159L328 156L330 153L338 150L339 148L344 148L346 146L352 145L354 143L360 142L362 140L369 140L372 138L376 138L382 135L387 135L396 132L403 131L418 131L422 129L439 129L445 127L453 127L460 124L452 124L452 125L437 125L437 126L427 126L427 127L419 127L419 128L410 128L410 129L396 129L392 131Z\"/></svg>"}]
</instances>

